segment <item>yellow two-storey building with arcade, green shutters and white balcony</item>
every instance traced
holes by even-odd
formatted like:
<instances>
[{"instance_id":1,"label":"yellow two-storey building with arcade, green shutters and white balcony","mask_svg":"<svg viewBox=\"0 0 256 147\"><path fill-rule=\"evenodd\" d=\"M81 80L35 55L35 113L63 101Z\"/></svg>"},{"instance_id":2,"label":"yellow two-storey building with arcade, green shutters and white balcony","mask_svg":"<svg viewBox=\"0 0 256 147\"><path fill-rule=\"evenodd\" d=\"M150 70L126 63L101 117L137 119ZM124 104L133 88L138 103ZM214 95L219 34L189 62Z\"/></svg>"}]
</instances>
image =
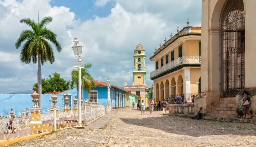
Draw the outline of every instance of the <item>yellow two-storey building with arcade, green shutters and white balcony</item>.
<instances>
[{"instance_id":1,"label":"yellow two-storey building with arcade, green shutters and white balcony","mask_svg":"<svg viewBox=\"0 0 256 147\"><path fill-rule=\"evenodd\" d=\"M154 52L150 60L155 70L150 73L154 81L154 100L163 101L180 94L184 101L191 102L192 95L200 92L201 27L188 26L177 33Z\"/></svg>"}]
</instances>

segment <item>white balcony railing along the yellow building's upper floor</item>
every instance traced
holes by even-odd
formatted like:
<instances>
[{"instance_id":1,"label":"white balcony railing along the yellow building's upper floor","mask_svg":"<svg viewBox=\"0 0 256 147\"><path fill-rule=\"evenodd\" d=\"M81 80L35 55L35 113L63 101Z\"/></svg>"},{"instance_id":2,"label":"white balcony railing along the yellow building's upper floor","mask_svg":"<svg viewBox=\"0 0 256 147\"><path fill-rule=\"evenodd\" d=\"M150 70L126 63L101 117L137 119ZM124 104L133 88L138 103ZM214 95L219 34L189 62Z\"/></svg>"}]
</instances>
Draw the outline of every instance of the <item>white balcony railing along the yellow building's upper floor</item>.
<instances>
[{"instance_id":1,"label":"white balcony railing along the yellow building's upper floor","mask_svg":"<svg viewBox=\"0 0 256 147\"><path fill-rule=\"evenodd\" d=\"M150 73L150 78L155 77L169 69L175 68L179 65L184 64L200 64L201 63L201 57L200 56L183 56L179 57L170 63L167 63L166 65L158 68L157 70Z\"/></svg>"}]
</instances>

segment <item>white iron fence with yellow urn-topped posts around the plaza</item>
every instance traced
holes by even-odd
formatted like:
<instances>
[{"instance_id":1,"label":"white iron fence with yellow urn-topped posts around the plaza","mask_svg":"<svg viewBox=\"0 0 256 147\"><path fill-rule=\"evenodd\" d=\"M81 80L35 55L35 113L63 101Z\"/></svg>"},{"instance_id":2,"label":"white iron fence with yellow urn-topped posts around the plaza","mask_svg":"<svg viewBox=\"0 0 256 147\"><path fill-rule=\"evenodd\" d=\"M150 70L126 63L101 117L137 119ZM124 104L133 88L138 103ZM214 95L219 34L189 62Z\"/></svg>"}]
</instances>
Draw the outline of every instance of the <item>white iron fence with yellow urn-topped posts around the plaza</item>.
<instances>
[{"instance_id":1,"label":"white iron fence with yellow urn-topped posts around the plaza","mask_svg":"<svg viewBox=\"0 0 256 147\"><path fill-rule=\"evenodd\" d=\"M93 103L84 104L82 107L82 124L88 125L91 122L105 115L105 106ZM14 112L14 111L13 111ZM65 111L63 108L59 108L56 112L56 127L58 130L62 130L72 126L78 126L78 115L76 108L72 111ZM33 134L39 134L54 130L54 115L51 109L45 109L38 112L39 117L31 117L31 113L34 116L35 111L22 113L19 112L12 115L0 115L0 140L12 139L22 136L28 136ZM15 133L12 133L12 129L8 128L8 122L12 120Z\"/></svg>"}]
</instances>

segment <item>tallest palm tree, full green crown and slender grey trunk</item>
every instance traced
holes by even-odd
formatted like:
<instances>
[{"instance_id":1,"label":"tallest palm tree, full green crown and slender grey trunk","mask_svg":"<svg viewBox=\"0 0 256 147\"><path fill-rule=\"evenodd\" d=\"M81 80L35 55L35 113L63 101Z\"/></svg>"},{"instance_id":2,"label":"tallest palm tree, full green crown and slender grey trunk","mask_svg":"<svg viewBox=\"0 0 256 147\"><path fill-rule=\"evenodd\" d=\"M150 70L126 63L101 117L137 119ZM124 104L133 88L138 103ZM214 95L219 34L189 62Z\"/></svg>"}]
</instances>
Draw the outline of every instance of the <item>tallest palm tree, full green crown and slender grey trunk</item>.
<instances>
[{"instance_id":1,"label":"tallest palm tree, full green crown and slender grey trunk","mask_svg":"<svg viewBox=\"0 0 256 147\"><path fill-rule=\"evenodd\" d=\"M29 64L31 61L37 63L37 86L39 101L38 105L42 108L42 72L41 64L44 65L47 61L51 64L54 63L54 52L50 41L57 49L61 51L61 44L57 41L57 35L46 28L46 26L52 22L52 17L44 17L40 22L36 23L30 18L20 19L20 23L27 24L31 30L24 30L20 33L20 37L15 43L15 47L18 49L21 47L23 42L24 45L21 47L20 61Z\"/></svg>"}]
</instances>

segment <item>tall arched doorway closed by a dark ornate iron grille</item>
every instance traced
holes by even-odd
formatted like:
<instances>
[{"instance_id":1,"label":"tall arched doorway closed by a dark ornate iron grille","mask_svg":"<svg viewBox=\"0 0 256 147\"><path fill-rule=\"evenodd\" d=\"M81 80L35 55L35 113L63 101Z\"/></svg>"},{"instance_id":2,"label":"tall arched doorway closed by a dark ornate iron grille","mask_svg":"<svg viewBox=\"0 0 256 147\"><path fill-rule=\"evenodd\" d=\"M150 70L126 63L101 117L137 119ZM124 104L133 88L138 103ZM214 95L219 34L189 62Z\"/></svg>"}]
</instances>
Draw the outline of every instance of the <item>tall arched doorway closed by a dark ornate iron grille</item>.
<instances>
[{"instance_id":1,"label":"tall arched doorway closed by a dark ornate iron grille","mask_svg":"<svg viewBox=\"0 0 256 147\"><path fill-rule=\"evenodd\" d=\"M245 87L243 0L227 0L220 17L220 97L235 97Z\"/></svg>"}]
</instances>

